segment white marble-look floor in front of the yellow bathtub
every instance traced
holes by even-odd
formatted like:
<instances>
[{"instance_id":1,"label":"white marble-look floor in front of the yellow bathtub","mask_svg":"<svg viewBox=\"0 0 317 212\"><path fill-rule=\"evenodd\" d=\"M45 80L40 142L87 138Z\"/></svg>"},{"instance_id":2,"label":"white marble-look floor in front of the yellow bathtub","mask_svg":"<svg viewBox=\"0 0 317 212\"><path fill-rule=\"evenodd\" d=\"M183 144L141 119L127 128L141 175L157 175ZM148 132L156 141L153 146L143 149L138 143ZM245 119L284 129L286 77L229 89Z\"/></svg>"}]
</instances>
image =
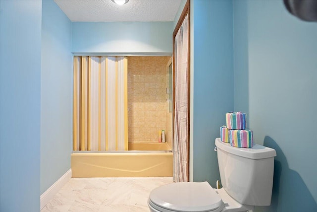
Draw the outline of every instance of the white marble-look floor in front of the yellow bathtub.
<instances>
[{"instance_id":1,"label":"white marble-look floor in front of the yellow bathtub","mask_svg":"<svg viewBox=\"0 0 317 212\"><path fill-rule=\"evenodd\" d=\"M71 178L41 212L149 212L150 192L172 177Z\"/></svg>"}]
</instances>

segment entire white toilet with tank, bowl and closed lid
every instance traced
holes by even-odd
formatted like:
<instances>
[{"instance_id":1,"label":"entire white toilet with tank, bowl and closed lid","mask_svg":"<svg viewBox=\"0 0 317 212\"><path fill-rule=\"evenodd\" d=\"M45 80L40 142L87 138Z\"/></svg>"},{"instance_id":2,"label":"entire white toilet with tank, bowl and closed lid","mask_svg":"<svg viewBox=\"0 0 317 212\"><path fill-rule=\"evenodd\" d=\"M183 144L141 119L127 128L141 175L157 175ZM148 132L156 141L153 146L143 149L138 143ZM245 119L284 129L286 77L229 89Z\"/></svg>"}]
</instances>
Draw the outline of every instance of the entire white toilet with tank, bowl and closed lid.
<instances>
[{"instance_id":1,"label":"entire white toilet with tank, bowl and closed lid","mask_svg":"<svg viewBox=\"0 0 317 212\"><path fill-rule=\"evenodd\" d=\"M222 188L208 182L171 183L154 189L151 212L246 212L271 203L274 149L233 147L215 140Z\"/></svg>"}]
</instances>

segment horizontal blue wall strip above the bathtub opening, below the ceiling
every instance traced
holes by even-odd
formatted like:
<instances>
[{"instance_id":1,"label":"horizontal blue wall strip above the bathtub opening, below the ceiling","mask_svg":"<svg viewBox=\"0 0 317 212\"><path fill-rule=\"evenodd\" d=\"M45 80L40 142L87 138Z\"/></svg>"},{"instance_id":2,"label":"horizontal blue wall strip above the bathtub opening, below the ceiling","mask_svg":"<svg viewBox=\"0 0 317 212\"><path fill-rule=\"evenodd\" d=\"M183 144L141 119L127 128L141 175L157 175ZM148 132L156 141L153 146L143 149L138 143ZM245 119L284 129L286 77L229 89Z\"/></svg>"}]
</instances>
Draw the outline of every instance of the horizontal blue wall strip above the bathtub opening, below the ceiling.
<instances>
[{"instance_id":1,"label":"horizontal blue wall strip above the bathtub opening, below the ceiling","mask_svg":"<svg viewBox=\"0 0 317 212\"><path fill-rule=\"evenodd\" d=\"M173 22L72 22L73 53L169 53Z\"/></svg>"}]
</instances>

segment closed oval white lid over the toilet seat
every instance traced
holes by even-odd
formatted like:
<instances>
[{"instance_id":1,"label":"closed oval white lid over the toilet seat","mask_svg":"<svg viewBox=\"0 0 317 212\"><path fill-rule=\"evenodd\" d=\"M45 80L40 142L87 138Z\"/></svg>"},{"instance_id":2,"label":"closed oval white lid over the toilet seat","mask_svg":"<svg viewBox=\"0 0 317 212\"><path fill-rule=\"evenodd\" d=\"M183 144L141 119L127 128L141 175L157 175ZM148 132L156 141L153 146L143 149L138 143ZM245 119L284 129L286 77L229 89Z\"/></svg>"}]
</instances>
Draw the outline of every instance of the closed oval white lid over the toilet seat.
<instances>
[{"instance_id":1,"label":"closed oval white lid over the toilet seat","mask_svg":"<svg viewBox=\"0 0 317 212\"><path fill-rule=\"evenodd\" d=\"M161 208L177 212L211 212L223 207L220 196L208 182L160 186L150 193L149 199Z\"/></svg>"}]
</instances>

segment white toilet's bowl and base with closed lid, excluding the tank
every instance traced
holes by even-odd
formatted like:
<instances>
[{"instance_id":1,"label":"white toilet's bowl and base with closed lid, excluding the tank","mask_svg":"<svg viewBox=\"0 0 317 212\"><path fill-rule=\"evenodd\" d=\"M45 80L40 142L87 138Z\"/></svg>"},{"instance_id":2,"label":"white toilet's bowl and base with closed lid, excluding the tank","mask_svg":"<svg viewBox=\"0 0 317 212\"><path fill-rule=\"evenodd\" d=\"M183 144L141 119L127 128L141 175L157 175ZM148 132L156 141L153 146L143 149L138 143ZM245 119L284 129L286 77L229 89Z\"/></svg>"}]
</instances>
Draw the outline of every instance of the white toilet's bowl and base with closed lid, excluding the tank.
<instances>
[{"instance_id":1,"label":"white toilet's bowl and base with closed lid, excluding the tank","mask_svg":"<svg viewBox=\"0 0 317 212\"><path fill-rule=\"evenodd\" d=\"M253 210L208 182L171 183L154 189L148 200L151 212L244 212Z\"/></svg>"}]
</instances>

